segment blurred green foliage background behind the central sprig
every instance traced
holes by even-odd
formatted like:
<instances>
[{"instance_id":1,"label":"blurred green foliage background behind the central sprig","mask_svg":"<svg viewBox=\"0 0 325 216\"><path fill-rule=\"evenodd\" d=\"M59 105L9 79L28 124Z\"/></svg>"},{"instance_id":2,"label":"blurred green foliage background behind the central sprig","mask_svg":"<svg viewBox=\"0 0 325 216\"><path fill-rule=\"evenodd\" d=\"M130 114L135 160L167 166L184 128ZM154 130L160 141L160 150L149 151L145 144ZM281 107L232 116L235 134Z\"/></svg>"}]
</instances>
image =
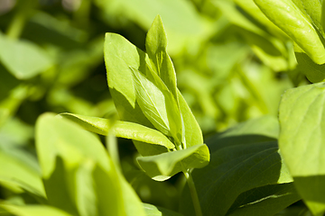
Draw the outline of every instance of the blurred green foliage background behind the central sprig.
<instances>
[{"instance_id":1,"label":"blurred green foliage background behind the central sprig","mask_svg":"<svg viewBox=\"0 0 325 216\"><path fill-rule=\"evenodd\" d=\"M0 166L9 156L39 172L33 130L43 112L115 116L104 35L119 33L144 49L157 14L178 86L205 137L276 116L283 91L307 82L292 42L253 0L0 0ZM119 143L125 176L142 200L177 209L181 179L153 182L137 168L132 143ZM32 202L0 180L0 199Z\"/></svg>"}]
</instances>

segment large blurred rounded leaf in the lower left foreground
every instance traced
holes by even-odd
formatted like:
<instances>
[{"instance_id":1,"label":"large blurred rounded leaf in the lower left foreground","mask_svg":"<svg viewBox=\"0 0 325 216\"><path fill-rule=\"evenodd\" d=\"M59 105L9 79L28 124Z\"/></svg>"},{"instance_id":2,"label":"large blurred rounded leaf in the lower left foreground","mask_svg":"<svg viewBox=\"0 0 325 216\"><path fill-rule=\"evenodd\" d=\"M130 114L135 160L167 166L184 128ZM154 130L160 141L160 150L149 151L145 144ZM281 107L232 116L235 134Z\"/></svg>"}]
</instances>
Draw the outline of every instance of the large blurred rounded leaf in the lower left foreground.
<instances>
[{"instance_id":1,"label":"large blurred rounded leaf in the lower left foreground","mask_svg":"<svg viewBox=\"0 0 325 216\"><path fill-rule=\"evenodd\" d=\"M51 205L71 214L125 215L116 168L96 136L45 113L36 123L36 148Z\"/></svg>"}]
</instances>

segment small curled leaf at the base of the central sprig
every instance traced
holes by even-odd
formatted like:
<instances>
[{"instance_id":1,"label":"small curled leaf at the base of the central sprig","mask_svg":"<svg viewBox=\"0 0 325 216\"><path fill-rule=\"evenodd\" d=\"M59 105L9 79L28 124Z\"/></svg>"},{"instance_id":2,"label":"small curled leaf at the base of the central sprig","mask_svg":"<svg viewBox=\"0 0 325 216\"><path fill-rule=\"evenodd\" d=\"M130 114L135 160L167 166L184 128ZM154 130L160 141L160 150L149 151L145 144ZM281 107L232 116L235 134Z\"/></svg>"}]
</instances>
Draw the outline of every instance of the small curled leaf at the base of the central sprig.
<instances>
[{"instance_id":1,"label":"small curled leaf at the base of the central sprig","mask_svg":"<svg viewBox=\"0 0 325 216\"><path fill-rule=\"evenodd\" d=\"M179 172L207 166L209 148L204 144L195 145L159 155L137 157L137 161L147 175L156 181L164 181Z\"/></svg>"}]
</instances>

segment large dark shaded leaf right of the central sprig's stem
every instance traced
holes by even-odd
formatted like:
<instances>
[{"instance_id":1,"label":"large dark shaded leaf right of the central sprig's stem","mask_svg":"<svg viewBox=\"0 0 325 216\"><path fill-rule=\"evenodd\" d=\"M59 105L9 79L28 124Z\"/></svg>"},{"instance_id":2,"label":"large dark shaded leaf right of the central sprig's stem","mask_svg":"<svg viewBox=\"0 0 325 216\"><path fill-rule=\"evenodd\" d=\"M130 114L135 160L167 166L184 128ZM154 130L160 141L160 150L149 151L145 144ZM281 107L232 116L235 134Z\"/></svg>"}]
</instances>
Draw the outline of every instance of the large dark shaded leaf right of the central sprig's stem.
<instances>
[{"instance_id":1,"label":"large dark shaded leaf right of the central sprig's stem","mask_svg":"<svg viewBox=\"0 0 325 216\"><path fill-rule=\"evenodd\" d=\"M271 216L300 199L292 191L292 177L279 153L278 132L276 118L265 116L240 123L207 140L211 152L209 165L192 171L203 215L227 215L243 204L246 208L256 204L261 212L265 209L259 215ZM275 188L282 189L277 193ZM242 201L243 197L247 200ZM184 215L194 215L188 187L181 195L180 208ZM251 210L248 215L255 215Z\"/></svg>"}]
</instances>

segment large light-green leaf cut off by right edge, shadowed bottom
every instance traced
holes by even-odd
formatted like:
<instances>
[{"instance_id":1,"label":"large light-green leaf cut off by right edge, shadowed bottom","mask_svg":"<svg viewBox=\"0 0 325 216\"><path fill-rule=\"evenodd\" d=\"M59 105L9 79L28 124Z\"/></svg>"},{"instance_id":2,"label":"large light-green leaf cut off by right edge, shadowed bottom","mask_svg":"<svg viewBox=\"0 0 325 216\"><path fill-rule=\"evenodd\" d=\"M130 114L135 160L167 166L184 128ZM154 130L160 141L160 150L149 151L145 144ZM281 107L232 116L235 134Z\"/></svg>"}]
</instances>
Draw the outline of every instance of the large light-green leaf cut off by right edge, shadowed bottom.
<instances>
[{"instance_id":1,"label":"large light-green leaf cut off by right edge, shadowed bottom","mask_svg":"<svg viewBox=\"0 0 325 216\"><path fill-rule=\"evenodd\" d=\"M325 212L324 101L324 83L304 85L285 92L279 108L283 158L315 215Z\"/></svg>"}]
</instances>

